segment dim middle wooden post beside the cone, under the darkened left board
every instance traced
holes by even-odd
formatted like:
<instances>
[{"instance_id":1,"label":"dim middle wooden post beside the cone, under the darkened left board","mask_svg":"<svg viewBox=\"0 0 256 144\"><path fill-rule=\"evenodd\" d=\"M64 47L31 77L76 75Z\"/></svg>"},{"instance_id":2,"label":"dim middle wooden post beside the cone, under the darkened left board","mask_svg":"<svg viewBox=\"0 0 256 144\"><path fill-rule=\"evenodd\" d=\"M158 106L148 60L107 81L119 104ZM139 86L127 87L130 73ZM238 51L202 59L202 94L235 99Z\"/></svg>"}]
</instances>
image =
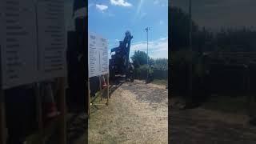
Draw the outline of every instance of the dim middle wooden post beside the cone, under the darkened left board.
<instances>
[{"instance_id":1,"label":"dim middle wooden post beside the cone, under the darkened left board","mask_svg":"<svg viewBox=\"0 0 256 144\"><path fill-rule=\"evenodd\" d=\"M40 83L34 84L35 96L36 96L36 108L38 118L38 132L39 132L39 144L43 144L43 122L42 122L42 90L40 89Z\"/></svg>"}]
</instances>

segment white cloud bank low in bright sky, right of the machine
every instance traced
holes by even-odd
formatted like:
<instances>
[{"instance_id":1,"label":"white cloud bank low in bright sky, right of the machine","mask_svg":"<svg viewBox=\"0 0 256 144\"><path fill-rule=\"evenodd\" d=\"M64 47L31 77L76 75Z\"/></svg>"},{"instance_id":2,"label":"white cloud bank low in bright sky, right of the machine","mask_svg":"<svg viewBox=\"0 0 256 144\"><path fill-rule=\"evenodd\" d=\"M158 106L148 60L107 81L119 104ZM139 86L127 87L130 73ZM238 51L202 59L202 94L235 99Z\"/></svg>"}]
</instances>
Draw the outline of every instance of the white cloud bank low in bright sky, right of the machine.
<instances>
[{"instance_id":1,"label":"white cloud bank low in bright sky, right of the machine","mask_svg":"<svg viewBox=\"0 0 256 144\"><path fill-rule=\"evenodd\" d=\"M149 42L150 58L168 58L168 38L159 38ZM146 52L146 41L132 43L130 46L130 57L135 50Z\"/></svg>"}]
</instances>

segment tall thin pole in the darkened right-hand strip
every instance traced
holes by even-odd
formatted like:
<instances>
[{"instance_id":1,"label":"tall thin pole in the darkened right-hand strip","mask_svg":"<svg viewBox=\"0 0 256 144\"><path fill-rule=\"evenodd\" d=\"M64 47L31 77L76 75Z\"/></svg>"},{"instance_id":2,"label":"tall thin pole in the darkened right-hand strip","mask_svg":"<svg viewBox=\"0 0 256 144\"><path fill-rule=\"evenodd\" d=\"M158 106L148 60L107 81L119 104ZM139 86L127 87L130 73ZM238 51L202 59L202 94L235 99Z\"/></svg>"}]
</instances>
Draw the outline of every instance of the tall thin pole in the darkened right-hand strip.
<instances>
[{"instance_id":1,"label":"tall thin pole in the darkened right-hand strip","mask_svg":"<svg viewBox=\"0 0 256 144\"><path fill-rule=\"evenodd\" d=\"M193 49L192 49L192 15L191 15L191 0L189 0L189 16L190 16L190 29L189 29L189 45L190 45L190 72L189 72L189 90L190 90L190 100L192 100L192 81L193 81Z\"/></svg>"}]
</instances>

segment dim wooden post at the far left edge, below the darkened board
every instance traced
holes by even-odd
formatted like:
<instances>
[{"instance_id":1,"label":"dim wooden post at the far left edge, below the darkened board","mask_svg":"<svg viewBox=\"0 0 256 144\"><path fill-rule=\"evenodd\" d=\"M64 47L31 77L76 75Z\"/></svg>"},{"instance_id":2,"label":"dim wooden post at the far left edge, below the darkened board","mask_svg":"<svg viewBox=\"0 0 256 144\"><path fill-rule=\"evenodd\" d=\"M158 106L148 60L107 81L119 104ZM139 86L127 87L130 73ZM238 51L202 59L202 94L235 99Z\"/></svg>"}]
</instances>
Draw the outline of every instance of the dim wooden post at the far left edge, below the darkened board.
<instances>
[{"instance_id":1,"label":"dim wooden post at the far left edge, below the darkened board","mask_svg":"<svg viewBox=\"0 0 256 144\"><path fill-rule=\"evenodd\" d=\"M6 109L4 90L1 90L0 93L0 143L6 144Z\"/></svg>"}]
</instances>

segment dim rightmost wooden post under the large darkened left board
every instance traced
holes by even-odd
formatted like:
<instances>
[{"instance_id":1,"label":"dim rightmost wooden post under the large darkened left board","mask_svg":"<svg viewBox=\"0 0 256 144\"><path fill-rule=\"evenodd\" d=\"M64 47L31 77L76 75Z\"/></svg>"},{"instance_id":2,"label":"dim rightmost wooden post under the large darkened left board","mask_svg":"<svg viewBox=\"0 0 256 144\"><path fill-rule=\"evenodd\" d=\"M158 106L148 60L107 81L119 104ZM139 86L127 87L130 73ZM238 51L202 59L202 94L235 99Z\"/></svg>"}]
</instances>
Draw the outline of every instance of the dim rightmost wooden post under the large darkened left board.
<instances>
[{"instance_id":1,"label":"dim rightmost wooden post under the large darkened left board","mask_svg":"<svg viewBox=\"0 0 256 144\"><path fill-rule=\"evenodd\" d=\"M58 93L58 102L60 115L58 118L59 121L59 143L66 144L66 78L58 78L59 80L59 93Z\"/></svg>"}]
</instances>

